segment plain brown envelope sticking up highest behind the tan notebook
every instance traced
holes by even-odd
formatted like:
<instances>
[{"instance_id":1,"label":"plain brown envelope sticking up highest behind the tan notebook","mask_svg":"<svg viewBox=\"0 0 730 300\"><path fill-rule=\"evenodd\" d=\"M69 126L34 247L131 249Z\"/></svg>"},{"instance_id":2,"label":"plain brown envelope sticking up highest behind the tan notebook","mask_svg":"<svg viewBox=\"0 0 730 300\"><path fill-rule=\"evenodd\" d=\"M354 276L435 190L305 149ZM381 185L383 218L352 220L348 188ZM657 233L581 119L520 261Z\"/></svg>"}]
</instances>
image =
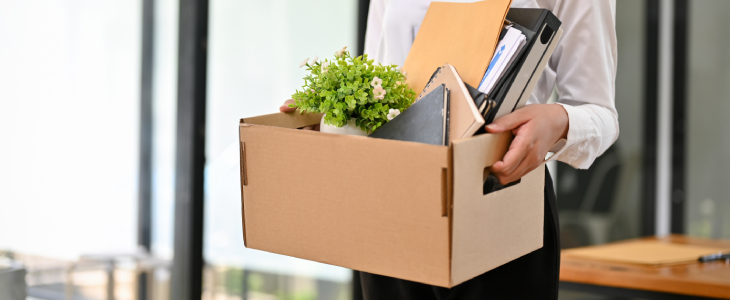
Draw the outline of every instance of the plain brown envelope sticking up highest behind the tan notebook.
<instances>
[{"instance_id":1,"label":"plain brown envelope sticking up highest behind the tan notebook","mask_svg":"<svg viewBox=\"0 0 730 300\"><path fill-rule=\"evenodd\" d=\"M449 63L461 79L479 86L499 41L511 0L475 3L432 2L403 70L408 85L423 90L436 68Z\"/></svg>"}]
</instances>

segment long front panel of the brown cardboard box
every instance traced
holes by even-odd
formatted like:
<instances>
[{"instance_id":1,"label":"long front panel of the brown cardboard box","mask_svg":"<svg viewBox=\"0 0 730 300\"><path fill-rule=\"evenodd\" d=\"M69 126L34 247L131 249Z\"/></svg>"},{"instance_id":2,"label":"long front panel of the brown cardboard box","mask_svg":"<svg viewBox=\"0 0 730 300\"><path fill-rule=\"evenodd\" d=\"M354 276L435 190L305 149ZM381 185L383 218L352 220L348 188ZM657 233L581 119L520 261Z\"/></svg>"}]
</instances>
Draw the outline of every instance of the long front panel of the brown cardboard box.
<instances>
[{"instance_id":1,"label":"long front panel of the brown cardboard box","mask_svg":"<svg viewBox=\"0 0 730 300\"><path fill-rule=\"evenodd\" d=\"M277 124L277 118L255 121ZM447 147L240 129L247 247L449 285L449 221L442 216Z\"/></svg>"}]
</instances>

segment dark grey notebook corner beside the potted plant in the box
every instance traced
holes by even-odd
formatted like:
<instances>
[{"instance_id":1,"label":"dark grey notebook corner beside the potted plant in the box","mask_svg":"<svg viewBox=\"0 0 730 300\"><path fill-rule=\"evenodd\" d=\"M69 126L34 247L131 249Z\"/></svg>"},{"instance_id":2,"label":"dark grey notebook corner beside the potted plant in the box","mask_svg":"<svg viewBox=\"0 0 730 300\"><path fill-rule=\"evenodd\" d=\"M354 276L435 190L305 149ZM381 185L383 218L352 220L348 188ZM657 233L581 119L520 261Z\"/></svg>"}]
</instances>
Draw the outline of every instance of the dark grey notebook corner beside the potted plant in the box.
<instances>
[{"instance_id":1,"label":"dark grey notebook corner beside the potted plant in the box","mask_svg":"<svg viewBox=\"0 0 730 300\"><path fill-rule=\"evenodd\" d=\"M449 89L439 85L369 137L448 145L449 102Z\"/></svg>"}]
</instances>

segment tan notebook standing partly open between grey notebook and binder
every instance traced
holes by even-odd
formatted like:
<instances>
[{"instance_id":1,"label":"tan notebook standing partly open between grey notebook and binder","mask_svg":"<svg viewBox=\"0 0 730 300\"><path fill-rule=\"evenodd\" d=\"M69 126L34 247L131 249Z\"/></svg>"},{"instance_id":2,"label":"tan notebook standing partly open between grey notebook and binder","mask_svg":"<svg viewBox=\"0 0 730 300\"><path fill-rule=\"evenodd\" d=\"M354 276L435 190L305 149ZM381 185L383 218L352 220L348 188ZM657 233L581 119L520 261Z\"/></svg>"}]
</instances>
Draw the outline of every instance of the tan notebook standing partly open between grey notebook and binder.
<instances>
[{"instance_id":1,"label":"tan notebook standing partly open between grey notebook and binder","mask_svg":"<svg viewBox=\"0 0 730 300\"><path fill-rule=\"evenodd\" d=\"M454 66L445 64L436 69L417 101L440 85L449 90L449 140L474 135L484 125L484 118Z\"/></svg>"}]
</instances>

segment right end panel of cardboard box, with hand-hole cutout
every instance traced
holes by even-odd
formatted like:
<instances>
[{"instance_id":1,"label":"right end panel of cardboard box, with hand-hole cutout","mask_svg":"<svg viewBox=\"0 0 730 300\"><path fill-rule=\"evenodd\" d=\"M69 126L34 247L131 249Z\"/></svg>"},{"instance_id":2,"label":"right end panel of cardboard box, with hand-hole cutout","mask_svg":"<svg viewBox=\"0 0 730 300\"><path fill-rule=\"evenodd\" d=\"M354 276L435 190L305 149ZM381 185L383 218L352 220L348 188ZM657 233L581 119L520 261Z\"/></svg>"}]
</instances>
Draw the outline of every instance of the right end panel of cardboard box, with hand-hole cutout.
<instances>
[{"instance_id":1,"label":"right end panel of cardboard box, with hand-hole cutout","mask_svg":"<svg viewBox=\"0 0 730 300\"><path fill-rule=\"evenodd\" d=\"M508 132L453 144L452 285L542 247L544 166L483 195L484 168L504 156L511 140Z\"/></svg>"}]
</instances>

